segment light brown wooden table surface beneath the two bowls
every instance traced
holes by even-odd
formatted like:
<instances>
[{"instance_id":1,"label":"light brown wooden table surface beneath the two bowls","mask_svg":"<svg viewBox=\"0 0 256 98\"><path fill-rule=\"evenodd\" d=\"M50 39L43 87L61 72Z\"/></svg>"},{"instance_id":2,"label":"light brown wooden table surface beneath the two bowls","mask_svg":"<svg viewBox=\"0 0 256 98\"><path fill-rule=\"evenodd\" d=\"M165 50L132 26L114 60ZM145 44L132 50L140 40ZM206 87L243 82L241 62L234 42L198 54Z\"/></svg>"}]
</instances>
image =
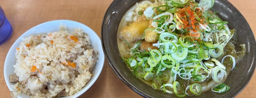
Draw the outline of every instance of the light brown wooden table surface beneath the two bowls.
<instances>
[{"instance_id":1,"label":"light brown wooden table surface beneath the two bowls","mask_svg":"<svg viewBox=\"0 0 256 98\"><path fill-rule=\"evenodd\" d=\"M0 0L6 17L13 27L11 38L0 46L0 97L10 98L4 80L4 61L15 40L37 24L57 19L81 22L91 27L100 37L101 22L113 0ZM228 0L245 17L256 35L256 0ZM242 24L241 24L242 25ZM256 72L246 88L235 98L256 97ZM115 75L105 59L103 70L81 98L140 98Z\"/></svg>"}]
</instances>

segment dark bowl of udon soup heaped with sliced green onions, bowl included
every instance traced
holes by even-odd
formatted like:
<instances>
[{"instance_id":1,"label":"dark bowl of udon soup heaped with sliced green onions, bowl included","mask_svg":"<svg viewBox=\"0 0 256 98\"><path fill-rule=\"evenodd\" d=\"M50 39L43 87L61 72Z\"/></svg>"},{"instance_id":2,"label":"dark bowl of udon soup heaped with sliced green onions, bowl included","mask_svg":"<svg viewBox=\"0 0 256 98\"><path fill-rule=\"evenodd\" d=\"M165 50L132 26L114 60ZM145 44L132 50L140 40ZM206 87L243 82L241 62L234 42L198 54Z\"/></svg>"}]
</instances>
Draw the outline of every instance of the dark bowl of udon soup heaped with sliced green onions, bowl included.
<instances>
[{"instance_id":1,"label":"dark bowl of udon soup heaped with sliced green onions, bowl included","mask_svg":"<svg viewBox=\"0 0 256 98\"><path fill-rule=\"evenodd\" d=\"M232 98L255 70L252 30L226 0L114 0L101 41L142 97Z\"/></svg>"}]
</instances>

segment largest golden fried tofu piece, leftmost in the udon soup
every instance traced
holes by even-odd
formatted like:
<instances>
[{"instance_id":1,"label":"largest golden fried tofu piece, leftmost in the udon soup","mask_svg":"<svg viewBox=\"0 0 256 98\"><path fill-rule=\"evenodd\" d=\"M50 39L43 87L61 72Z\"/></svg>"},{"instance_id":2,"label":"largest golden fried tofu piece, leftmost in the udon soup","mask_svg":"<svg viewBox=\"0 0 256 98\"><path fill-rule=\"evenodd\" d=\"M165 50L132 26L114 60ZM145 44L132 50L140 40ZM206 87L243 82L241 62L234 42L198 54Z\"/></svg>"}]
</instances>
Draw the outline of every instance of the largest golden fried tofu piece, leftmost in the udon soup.
<instances>
[{"instance_id":1,"label":"largest golden fried tofu piece, leftmost in the udon soup","mask_svg":"<svg viewBox=\"0 0 256 98\"><path fill-rule=\"evenodd\" d=\"M123 27L119 32L118 37L128 43L140 40L143 37L144 30L148 27L149 20L146 16L138 17L133 23Z\"/></svg>"}]
</instances>

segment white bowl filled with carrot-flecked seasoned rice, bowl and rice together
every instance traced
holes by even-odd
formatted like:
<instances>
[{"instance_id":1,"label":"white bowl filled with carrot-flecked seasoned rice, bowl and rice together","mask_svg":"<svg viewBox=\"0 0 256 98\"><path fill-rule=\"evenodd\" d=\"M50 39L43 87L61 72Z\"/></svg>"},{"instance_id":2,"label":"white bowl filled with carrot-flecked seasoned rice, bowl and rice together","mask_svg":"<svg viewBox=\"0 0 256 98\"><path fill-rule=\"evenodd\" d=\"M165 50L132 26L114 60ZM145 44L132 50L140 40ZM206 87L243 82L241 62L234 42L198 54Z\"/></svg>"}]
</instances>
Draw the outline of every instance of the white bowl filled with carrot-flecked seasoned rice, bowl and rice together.
<instances>
[{"instance_id":1,"label":"white bowl filled with carrot-flecked seasoned rice, bowl and rice together","mask_svg":"<svg viewBox=\"0 0 256 98\"><path fill-rule=\"evenodd\" d=\"M75 98L97 80L104 64L98 35L82 23L53 20L19 37L4 63L11 96Z\"/></svg>"}]
</instances>

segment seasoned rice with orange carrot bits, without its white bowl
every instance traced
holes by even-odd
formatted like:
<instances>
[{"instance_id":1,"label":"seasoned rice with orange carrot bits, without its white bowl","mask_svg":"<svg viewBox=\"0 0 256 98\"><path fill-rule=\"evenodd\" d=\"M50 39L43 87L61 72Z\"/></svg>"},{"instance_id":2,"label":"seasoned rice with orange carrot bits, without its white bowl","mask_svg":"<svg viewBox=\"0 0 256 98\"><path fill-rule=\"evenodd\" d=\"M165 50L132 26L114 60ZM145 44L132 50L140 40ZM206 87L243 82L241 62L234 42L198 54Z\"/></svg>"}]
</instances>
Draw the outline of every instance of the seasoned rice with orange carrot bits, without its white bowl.
<instances>
[{"instance_id":1,"label":"seasoned rice with orange carrot bits, without its white bowl","mask_svg":"<svg viewBox=\"0 0 256 98\"><path fill-rule=\"evenodd\" d=\"M93 75L90 71L98 53L83 30L68 33L60 26L60 31L24 38L16 48L15 59L18 81L12 85L12 97L24 93L51 98L81 90Z\"/></svg>"}]
</instances>

